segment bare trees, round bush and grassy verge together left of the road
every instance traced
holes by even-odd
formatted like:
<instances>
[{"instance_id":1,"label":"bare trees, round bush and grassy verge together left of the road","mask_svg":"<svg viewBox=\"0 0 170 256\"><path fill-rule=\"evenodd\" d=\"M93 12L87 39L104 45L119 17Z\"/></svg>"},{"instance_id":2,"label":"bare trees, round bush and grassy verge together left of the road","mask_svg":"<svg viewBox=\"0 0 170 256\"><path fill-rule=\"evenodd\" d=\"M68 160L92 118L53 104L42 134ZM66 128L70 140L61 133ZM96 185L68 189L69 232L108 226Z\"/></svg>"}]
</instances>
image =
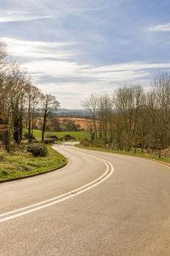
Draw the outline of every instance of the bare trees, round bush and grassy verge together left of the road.
<instances>
[{"instance_id":1,"label":"bare trees, round bush and grassy verge together left of the road","mask_svg":"<svg viewBox=\"0 0 170 256\"><path fill-rule=\"evenodd\" d=\"M47 172L66 162L51 148L52 141L44 143L48 118L59 102L31 84L30 75L11 61L6 49L0 42L0 180ZM33 136L37 115L42 119L41 142Z\"/></svg>"}]
</instances>

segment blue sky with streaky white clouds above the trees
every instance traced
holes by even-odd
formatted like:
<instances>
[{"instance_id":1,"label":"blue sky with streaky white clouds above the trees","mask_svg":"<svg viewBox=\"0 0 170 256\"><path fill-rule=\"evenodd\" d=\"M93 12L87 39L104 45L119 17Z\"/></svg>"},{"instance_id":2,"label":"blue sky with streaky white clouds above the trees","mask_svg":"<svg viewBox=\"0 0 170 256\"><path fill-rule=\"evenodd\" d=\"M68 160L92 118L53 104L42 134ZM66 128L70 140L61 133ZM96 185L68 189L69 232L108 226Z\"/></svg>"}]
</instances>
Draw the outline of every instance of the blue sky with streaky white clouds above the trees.
<instances>
[{"instance_id":1,"label":"blue sky with streaky white clouds above the trees","mask_svg":"<svg viewBox=\"0 0 170 256\"><path fill-rule=\"evenodd\" d=\"M0 39L61 108L170 70L170 0L0 0Z\"/></svg>"}]
</instances>

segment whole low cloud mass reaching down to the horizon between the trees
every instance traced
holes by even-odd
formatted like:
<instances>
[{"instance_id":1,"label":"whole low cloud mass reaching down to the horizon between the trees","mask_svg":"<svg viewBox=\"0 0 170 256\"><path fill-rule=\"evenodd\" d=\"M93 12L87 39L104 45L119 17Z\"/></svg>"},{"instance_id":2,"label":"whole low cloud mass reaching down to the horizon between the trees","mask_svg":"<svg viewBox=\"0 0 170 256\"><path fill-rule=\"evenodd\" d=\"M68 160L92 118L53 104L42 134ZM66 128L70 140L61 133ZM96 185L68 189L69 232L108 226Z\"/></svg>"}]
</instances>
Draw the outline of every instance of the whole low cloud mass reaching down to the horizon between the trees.
<instances>
[{"instance_id":1,"label":"whole low cloud mass reaching down to the horizon between the trees","mask_svg":"<svg viewBox=\"0 0 170 256\"><path fill-rule=\"evenodd\" d=\"M125 83L148 86L149 70L170 68L170 63L129 62L93 67L76 61L29 61L22 67L28 68L43 92L52 93L62 102L61 108L82 108L82 101L94 91L112 94Z\"/></svg>"}]
</instances>

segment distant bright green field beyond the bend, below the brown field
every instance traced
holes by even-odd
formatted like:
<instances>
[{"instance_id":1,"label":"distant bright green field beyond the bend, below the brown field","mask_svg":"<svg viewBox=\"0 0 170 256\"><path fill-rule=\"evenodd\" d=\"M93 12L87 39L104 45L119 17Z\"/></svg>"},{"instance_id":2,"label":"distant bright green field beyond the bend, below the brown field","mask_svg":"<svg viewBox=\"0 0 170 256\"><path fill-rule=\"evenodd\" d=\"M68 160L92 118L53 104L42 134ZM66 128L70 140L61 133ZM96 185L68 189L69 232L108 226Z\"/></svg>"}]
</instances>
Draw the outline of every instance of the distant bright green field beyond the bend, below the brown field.
<instances>
[{"instance_id":1,"label":"distant bright green field beyond the bend, below the brown field","mask_svg":"<svg viewBox=\"0 0 170 256\"><path fill-rule=\"evenodd\" d=\"M27 132L26 129L24 129L23 134ZM89 132L88 131L46 131L45 132L45 137L48 134L53 134L56 135L57 137L64 137L66 134L70 134L71 137L75 137L77 140L82 140L85 137L89 137ZM42 131L39 130L34 130L33 131L33 135L34 137L36 137L37 139L41 139L42 138Z\"/></svg>"}]
</instances>

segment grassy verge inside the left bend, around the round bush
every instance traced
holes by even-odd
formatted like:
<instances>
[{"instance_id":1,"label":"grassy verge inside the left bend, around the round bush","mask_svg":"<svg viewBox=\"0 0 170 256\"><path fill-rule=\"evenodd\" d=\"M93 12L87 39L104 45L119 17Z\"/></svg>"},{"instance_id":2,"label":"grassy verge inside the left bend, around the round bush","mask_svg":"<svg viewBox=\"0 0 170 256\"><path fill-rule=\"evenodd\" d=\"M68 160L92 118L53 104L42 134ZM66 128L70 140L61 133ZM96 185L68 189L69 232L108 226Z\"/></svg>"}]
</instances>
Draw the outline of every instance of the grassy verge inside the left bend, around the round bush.
<instances>
[{"instance_id":1,"label":"grassy verge inside the left bend, around the round bush","mask_svg":"<svg viewBox=\"0 0 170 256\"><path fill-rule=\"evenodd\" d=\"M10 154L1 153L0 180L47 172L63 166L65 162L65 157L49 145L48 155L45 157L34 157L26 150L14 151Z\"/></svg>"}]
</instances>

